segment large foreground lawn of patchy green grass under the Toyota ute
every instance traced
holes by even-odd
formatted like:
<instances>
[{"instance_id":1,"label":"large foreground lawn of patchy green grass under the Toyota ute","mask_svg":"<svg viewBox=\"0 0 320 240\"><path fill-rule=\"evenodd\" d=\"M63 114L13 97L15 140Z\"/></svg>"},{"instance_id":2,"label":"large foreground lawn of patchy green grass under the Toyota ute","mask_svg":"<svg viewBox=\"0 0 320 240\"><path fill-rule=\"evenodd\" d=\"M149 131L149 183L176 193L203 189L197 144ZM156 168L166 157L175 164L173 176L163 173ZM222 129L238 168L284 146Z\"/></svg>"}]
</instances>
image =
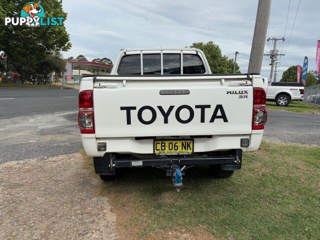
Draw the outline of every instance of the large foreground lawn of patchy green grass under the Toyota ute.
<instances>
[{"instance_id":1,"label":"large foreground lawn of patchy green grass under the Toyota ute","mask_svg":"<svg viewBox=\"0 0 320 240\"><path fill-rule=\"evenodd\" d=\"M94 174L91 158L84 167ZM230 178L196 166L183 184L175 192L164 171L132 168L94 191L109 198L120 239L320 238L320 147L263 142Z\"/></svg>"}]
</instances>

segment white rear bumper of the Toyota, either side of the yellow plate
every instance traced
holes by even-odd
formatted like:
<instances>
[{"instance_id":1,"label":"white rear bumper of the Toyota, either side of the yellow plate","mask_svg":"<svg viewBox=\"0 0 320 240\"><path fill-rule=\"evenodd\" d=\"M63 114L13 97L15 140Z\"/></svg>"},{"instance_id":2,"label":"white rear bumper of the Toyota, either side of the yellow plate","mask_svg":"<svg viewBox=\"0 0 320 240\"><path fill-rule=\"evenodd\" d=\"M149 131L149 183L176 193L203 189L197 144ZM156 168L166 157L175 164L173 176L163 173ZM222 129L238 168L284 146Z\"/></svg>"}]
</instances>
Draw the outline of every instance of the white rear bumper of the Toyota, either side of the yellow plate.
<instances>
[{"instance_id":1,"label":"white rear bumper of the Toyota, either side of the yellow plate","mask_svg":"<svg viewBox=\"0 0 320 240\"><path fill-rule=\"evenodd\" d=\"M261 143L263 130L252 130L252 134L213 135L212 138L194 138L194 152L241 149L256 151ZM241 147L240 139L248 138L249 146ZM81 134L82 144L88 156L103 156L108 152L153 153L153 139L136 140L134 137L95 138L94 134ZM98 151L97 143L105 142L106 150Z\"/></svg>"}]
</instances>

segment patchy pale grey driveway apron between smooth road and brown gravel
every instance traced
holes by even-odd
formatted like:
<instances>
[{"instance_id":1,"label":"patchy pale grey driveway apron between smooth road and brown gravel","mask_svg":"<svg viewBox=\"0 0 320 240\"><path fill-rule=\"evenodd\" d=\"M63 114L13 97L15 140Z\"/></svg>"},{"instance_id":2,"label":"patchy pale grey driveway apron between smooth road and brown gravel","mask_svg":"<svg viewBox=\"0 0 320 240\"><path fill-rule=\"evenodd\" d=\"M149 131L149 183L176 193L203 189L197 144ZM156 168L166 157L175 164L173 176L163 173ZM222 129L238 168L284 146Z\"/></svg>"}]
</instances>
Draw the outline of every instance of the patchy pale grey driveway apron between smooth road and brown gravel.
<instances>
[{"instance_id":1,"label":"patchy pale grey driveway apron between smooth road and brown gravel","mask_svg":"<svg viewBox=\"0 0 320 240\"><path fill-rule=\"evenodd\" d=\"M77 111L0 119L0 163L79 152Z\"/></svg>"}]
</instances>

